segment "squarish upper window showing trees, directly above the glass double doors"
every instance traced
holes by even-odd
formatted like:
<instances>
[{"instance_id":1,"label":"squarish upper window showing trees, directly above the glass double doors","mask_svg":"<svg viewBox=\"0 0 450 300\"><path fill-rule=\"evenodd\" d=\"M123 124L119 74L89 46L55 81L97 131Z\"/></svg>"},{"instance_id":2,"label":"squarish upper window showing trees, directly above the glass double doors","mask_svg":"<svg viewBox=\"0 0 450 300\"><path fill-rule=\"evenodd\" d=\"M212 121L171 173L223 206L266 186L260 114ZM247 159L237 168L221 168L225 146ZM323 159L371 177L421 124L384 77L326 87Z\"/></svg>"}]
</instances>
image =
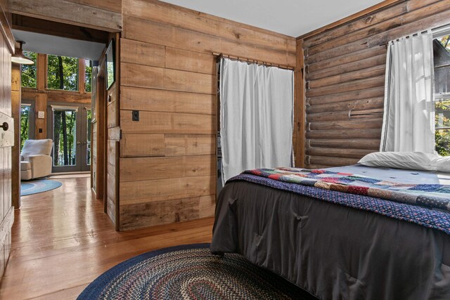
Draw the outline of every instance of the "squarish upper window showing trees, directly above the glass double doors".
<instances>
[{"instance_id":1,"label":"squarish upper window showing trees, directly above the glass double doors","mask_svg":"<svg viewBox=\"0 0 450 300\"><path fill-rule=\"evenodd\" d=\"M78 58L47 56L47 88L78 91Z\"/></svg>"}]
</instances>

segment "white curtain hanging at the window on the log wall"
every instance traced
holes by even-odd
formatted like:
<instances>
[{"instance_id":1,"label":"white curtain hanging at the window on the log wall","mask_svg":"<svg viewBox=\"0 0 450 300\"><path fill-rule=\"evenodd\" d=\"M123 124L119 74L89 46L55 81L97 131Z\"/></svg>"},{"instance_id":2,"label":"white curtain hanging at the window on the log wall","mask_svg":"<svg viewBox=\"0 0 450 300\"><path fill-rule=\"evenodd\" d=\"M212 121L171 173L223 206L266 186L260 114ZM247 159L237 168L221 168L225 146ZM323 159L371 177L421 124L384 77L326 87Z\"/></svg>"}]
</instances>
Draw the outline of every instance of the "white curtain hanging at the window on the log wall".
<instances>
[{"instance_id":1,"label":"white curtain hanging at the window on the log wall","mask_svg":"<svg viewBox=\"0 0 450 300\"><path fill-rule=\"evenodd\" d=\"M380 151L435 152L432 34L389 43Z\"/></svg>"}]
</instances>

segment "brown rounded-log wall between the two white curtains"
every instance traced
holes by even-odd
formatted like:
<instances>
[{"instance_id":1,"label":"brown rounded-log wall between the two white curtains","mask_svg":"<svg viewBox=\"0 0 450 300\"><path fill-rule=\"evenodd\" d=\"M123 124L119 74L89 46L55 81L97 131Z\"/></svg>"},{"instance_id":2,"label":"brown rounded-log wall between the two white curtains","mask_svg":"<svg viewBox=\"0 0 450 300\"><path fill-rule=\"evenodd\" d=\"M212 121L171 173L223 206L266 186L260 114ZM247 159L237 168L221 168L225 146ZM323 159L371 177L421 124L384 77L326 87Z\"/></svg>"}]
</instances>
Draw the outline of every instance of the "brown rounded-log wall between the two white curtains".
<instances>
[{"instance_id":1,"label":"brown rounded-log wall between the two white curtains","mask_svg":"<svg viewBox=\"0 0 450 300\"><path fill-rule=\"evenodd\" d=\"M378 151L385 44L449 23L450 1L410 0L297 41L306 71L305 167L354 164Z\"/></svg>"}]
</instances>

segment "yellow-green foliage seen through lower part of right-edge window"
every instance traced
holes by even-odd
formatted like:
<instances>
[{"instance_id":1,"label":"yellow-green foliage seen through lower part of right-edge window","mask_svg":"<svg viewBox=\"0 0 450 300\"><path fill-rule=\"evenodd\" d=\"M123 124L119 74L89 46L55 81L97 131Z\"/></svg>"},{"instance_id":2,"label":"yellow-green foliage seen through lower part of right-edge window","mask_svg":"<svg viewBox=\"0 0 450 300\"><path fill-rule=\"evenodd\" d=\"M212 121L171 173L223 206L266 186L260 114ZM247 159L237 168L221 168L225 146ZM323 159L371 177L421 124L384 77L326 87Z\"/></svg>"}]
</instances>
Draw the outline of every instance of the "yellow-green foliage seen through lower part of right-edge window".
<instances>
[{"instance_id":1,"label":"yellow-green foliage seen through lower part of right-edge window","mask_svg":"<svg viewBox=\"0 0 450 300\"><path fill-rule=\"evenodd\" d=\"M450 100L437 101L435 103L435 141L436 151L439 155L450 155ZM441 128L441 129L439 129Z\"/></svg>"}]
</instances>

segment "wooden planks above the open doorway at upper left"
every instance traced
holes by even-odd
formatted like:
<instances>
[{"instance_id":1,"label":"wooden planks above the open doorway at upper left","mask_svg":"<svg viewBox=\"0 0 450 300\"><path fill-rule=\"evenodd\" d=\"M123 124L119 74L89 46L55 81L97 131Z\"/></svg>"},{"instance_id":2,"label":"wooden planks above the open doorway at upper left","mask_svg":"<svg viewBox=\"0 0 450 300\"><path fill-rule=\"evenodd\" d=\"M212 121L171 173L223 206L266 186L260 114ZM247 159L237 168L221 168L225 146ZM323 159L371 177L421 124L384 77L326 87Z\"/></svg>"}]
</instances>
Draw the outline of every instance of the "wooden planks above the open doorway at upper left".
<instances>
[{"instance_id":1,"label":"wooden planks above the open doorway at upper left","mask_svg":"<svg viewBox=\"0 0 450 300\"><path fill-rule=\"evenodd\" d=\"M8 0L11 13L90 27L122 30L122 0ZM58 31L58 30L56 30Z\"/></svg>"}]
</instances>

